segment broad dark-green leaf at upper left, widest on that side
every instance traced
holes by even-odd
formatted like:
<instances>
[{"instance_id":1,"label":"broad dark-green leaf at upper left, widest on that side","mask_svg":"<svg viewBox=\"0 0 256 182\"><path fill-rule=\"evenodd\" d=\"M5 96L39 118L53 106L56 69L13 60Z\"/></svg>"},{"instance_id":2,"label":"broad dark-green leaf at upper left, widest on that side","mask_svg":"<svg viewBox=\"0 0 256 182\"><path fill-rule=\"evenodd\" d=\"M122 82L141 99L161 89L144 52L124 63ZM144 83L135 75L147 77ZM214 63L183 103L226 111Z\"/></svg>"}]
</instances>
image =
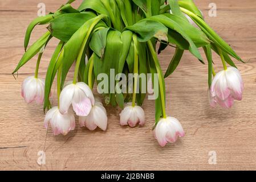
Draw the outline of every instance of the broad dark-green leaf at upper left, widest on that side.
<instances>
[{"instance_id":1,"label":"broad dark-green leaf at upper left, widest on that side","mask_svg":"<svg viewBox=\"0 0 256 182\"><path fill-rule=\"evenodd\" d=\"M92 13L63 14L51 21L48 30L55 38L67 42L84 23L95 17Z\"/></svg>"}]
</instances>

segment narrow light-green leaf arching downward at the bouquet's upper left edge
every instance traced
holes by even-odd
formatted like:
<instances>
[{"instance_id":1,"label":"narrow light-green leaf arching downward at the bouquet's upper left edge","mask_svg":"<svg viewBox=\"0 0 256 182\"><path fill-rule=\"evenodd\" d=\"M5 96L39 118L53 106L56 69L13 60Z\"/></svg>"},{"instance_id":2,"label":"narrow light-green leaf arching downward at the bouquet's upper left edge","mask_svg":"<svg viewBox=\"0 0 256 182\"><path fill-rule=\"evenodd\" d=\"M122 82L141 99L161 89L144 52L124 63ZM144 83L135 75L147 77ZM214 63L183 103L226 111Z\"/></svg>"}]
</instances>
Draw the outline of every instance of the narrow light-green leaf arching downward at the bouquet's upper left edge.
<instances>
[{"instance_id":1,"label":"narrow light-green leaf arching downward at the bouquet's upper left edge","mask_svg":"<svg viewBox=\"0 0 256 182\"><path fill-rule=\"evenodd\" d=\"M27 27L26 35L25 35L25 41L24 41L24 47L25 51L27 50L27 46L29 45L29 40L31 36L31 32L34 29L34 27L38 24L47 24L52 20L52 14L46 15L46 16L41 16L36 19L34 19L30 24L29 27Z\"/></svg>"}]
</instances>

